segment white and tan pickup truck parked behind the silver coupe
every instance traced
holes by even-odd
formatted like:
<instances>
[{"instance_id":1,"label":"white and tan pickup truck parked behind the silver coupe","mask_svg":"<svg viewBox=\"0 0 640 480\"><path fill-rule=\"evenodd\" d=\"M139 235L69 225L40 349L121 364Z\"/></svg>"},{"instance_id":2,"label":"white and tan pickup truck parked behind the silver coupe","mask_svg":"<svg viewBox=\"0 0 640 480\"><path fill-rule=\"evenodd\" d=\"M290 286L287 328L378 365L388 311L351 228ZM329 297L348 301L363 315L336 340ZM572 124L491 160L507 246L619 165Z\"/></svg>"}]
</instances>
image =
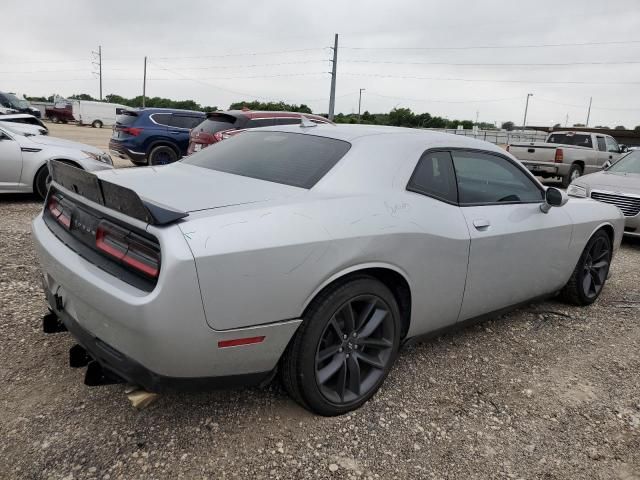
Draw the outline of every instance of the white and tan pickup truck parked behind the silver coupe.
<instances>
[{"instance_id":1,"label":"white and tan pickup truck parked behind the silver coupe","mask_svg":"<svg viewBox=\"0 0 640 480\"><path fill-rule=\"evenodd\" d=\"M627 151L610 135L590 132L551 132L544 142L513 143L507 151L534 175L560 177L563 187L573 180L601 170Z\"/></svg>"}]
</instances>

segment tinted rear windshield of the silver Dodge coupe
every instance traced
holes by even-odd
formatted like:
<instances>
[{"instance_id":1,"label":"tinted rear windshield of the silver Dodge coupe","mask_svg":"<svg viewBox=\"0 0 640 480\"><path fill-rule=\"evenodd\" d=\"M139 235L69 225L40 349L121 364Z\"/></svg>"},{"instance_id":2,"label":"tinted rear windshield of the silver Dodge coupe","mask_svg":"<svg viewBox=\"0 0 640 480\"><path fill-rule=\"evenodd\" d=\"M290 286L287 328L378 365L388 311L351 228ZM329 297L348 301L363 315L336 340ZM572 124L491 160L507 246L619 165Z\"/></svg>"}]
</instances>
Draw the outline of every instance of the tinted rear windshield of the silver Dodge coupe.
<instances>
[{"instance_id":1,"label":"tinted rear windshield of the silver Dodge coupe","mask_svg":"<svg viewBox=\"0 0 640 480\"><path fill-rule=\"evenodd\" d=\"M301 133L247 131L182 161L292 187L313 187L351 144Z\"/></svg>"}]
</instances>

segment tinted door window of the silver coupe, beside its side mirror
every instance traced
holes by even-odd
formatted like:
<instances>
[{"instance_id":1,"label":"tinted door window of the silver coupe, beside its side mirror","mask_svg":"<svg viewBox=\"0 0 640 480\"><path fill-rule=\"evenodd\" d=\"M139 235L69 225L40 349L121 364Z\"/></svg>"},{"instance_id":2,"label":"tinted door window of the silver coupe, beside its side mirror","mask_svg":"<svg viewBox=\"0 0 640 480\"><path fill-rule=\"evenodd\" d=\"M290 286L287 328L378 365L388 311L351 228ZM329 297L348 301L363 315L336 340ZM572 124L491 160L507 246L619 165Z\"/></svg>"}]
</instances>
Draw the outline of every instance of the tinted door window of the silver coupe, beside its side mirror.
<instances>
[{"instance_id":1,"label":"tinted door window of the silver coupe, beside its side mirror","mask_svg":"<svg viewBox=\"0 0 640 480\"><path fill-rule=\"evenodd\" d=\"M461 205L533 203L543 191L508 159L489 152L452 152Z\"/></svg>"}]
</instances>

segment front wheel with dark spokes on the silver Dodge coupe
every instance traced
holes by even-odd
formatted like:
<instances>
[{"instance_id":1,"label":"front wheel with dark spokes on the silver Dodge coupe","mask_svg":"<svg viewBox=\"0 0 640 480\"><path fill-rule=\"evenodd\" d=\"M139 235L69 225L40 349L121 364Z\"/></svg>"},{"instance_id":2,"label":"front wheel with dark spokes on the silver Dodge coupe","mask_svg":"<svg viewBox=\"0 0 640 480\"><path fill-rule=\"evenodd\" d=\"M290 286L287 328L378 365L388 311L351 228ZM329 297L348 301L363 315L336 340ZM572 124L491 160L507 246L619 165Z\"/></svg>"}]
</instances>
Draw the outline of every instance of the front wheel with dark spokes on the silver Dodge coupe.
<instances>
[{"instance_id":1,"label":"front wheel with dark spokes on the silver Dodge coupe","mask_svg":"<svg viewBox=\"0 0 640 480\"><path fill-rule=\"evenodd\" d=\"M613 249L609 235L598 230L587 242L562 297L579 306L591 305L600 296L611 267Z\"/></svg>"}]
</instances>

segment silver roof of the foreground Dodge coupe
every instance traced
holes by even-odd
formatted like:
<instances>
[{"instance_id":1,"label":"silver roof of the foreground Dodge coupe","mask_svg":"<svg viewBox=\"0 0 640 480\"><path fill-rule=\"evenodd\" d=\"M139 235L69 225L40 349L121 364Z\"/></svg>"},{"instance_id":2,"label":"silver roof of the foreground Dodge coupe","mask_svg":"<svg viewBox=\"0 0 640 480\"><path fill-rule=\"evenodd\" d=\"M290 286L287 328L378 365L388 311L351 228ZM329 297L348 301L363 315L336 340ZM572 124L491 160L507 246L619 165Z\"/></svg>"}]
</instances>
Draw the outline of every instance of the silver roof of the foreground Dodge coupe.
<instances>
[{"instance_id":1,"label":"silver roof of the foreground Dodge coupe","mask_svg":"<svg viewBox=\"0 0 640 480\"><path fill-rule=\"evenodd\" d=\"M355 143L362 139L375 136L388 136L402 139L406 143L416 145L432 145L452 148L471 148L489 150L506 154L506 151L492 143L484 140L456 135L452 133L435 132L421 128L390 127L384 125L353 125L353 124L320 124L313 127L302 127L300 125L282 125L278 127L262 127L252 129L253 131L277 131L290 133L304 133L336 140L343 140Z\"/></svg>"}]
</instances>

